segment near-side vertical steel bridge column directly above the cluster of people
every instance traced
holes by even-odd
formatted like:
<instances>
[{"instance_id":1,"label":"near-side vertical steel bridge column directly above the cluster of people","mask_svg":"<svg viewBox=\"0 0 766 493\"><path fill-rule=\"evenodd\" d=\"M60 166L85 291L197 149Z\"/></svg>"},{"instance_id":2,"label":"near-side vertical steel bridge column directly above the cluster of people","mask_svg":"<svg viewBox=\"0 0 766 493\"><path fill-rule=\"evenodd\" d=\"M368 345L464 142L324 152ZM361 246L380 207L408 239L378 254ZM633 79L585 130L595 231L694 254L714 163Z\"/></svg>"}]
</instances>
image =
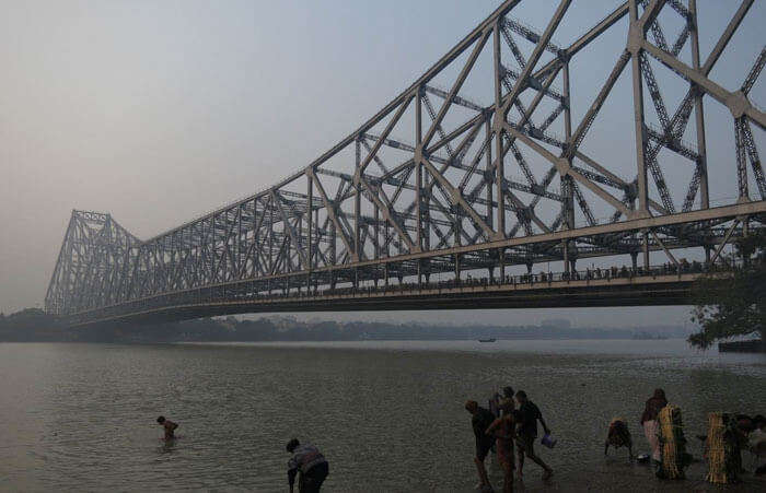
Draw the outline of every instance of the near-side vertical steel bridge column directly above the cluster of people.
<instances>
[{"instance_id":1,"label":"near-side vertical steel bridge column directly above the cluster of people","mask_svg":"<svg viewBox=\"0 0 766 493\"><path fill-rule=\"evenodd\" d=\"M506 169L502 159L502 126L504 124L504 116L500 110L502 104L502 75L501 75L501 60L500 60L500 17L495 21L492 26L492 60L495 67L495 124L494 129L490 128L489 120L487 120L487 139L490 138L491 131L495 131L495 149L496 149L496 163L495 163L495 180L498 196L498 210L497 210L497 227L496 231L501 237L506 237L506 202L504 192L502 189ZM487 173L489 174L491 156L491 145L487 145ZM492 187L487 184L487 202L489 208L489 213L487 214L487 225L492 227Z\"/></svg>"}]
</instances>

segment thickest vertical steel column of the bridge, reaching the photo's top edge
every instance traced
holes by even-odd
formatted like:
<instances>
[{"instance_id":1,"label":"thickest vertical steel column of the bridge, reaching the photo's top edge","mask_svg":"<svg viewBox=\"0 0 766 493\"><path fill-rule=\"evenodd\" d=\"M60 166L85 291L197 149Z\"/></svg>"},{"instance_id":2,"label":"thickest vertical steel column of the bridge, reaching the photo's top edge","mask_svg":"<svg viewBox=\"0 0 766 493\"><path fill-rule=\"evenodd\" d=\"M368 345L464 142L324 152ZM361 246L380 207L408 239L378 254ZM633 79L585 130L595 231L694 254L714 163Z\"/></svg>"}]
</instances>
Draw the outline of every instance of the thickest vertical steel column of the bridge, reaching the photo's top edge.
<instances>
[{"instance_id":1,"label":"thickest vertical steel column of the bridge, reaching the photo's top edge","mask_svg":"<svg viewBox=\"0 0 766 493\"><path fill-rule=\"evenodd\" d=\"M639 214L649 213L649 184L647 183L646 128L643 122L643 83L641 80L641 44L646 38L643 26L639 22L638 0L629 0L630 28L628 31L628 50L632 67L632 102L636 127L636 166L638 172L638 210Z\"/></svg>"}]
</instances>

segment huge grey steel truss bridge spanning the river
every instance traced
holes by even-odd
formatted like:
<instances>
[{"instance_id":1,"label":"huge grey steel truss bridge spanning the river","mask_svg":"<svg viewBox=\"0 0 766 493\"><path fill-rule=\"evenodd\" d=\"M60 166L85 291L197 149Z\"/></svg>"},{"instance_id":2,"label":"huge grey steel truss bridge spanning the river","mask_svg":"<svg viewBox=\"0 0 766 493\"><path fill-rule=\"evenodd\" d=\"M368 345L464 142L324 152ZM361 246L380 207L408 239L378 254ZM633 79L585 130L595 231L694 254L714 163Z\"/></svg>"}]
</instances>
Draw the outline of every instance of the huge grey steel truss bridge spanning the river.
<instances>
[{"instance_id":1,"label":"huge grey steel truss bridge spanning the river","mask_svg":"<svg viewBox=\"0 0 766 493\"><path fill-rule=\"evenodd\" d=\"M724 246L766 219L756 146L766 115L750 99L766 48L741 63L735 89L710 79L743 19L763 5L733 5L700 57L695 0L629 0L567 45L554 34L571 1L552 5L541 30L518 20L527 2L503 2L361 127L270 188L146 240L109 214L73 211L47 312L77 326L683 304L700 272L726 263ZM578 62L605 36L610 46L618 39L614 58L597 61L608 64L605 78L578 86L578 69L597 71ZM623 73L629 94L608 99ZM670 106L673 84L682 96ZM587 152L583 143L606 138L603 127L589 132L599 115L625 113L619 104L632 108L631 145L604 159ZM715 136L733 142L731 159L708 161L711 106L731 118L733 131ZM726 185L736 197L711 206ZM583 270L583 260L605 268Z\"/></svg>"}]
</instances>

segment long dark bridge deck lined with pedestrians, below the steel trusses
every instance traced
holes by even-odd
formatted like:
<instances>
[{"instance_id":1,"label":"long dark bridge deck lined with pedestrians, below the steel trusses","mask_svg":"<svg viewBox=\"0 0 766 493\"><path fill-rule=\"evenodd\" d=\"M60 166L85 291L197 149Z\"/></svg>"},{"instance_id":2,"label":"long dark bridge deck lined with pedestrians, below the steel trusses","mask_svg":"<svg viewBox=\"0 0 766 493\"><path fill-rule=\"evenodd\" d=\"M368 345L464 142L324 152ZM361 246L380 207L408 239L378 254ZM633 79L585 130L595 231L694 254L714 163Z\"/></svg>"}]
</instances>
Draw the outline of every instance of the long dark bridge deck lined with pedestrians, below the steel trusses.
<instances>
[{"instance_id":1,"label":"long dark bridge deck lined with pedestrians, below the steel trusses","mask_svg":"<svg viewBox=\"0 0 766 493\"><path fill-rule=\"evenodd\" d=\"M359 290L274 294L247 300L170 303L148 309L94 318L104 321L159 322L243 313L359 312L409 309L561 308L689 304L692 284L700 273L636 275L610 279L550 280L462 285L431 283Z\"/></svg>"}]
</instances>

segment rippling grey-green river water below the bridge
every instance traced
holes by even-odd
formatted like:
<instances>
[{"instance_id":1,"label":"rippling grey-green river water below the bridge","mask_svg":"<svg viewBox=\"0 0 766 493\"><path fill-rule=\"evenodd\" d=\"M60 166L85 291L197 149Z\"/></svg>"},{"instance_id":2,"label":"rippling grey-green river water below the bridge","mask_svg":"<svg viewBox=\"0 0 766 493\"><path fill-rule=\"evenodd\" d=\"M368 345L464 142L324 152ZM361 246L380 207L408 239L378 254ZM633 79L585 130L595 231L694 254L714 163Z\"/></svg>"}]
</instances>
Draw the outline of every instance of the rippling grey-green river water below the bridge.
<instances>
[{"instance_id":1,"label":"rippling grey-green river water below the bridge","mask_svg":"<svg viewBox=\"0 0 766 493\"><path fill-rule=\"evenodd\" d=\"M463 404L508 384L558 438L541 451L558 491L614 476L636 491L665 488L624 449L603 456L613 416L646 451L638 420L654 387L681 406L695 456L707 412L766 413L765 356L681 340L8 343L0 490L287 491L285 443L297 436L328 458L327 491L473 491ZM159 439L159 414L181 424L172 445ZM546 488L535 465L524 484Z\"/></svg>"}]
</instances>

